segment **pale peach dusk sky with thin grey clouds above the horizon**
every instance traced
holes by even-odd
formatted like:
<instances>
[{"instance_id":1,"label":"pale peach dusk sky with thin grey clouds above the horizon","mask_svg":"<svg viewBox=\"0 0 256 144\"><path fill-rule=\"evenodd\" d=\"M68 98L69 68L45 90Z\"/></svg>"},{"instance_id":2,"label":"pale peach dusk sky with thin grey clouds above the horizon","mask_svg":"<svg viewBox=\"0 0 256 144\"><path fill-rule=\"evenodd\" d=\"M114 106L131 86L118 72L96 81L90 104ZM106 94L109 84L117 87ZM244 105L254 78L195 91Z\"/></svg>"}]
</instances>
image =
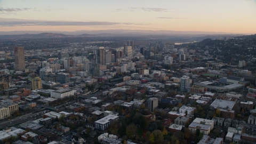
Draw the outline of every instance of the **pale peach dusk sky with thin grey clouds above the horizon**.
<instances>
[{"instance_id":1,"label":"pale peach dusk sky with thin grey clouds above the horizon","mask_svg":"<svg viewBox=\"0 0 256 144\"><path fill-rule=\"evenodd\" d=\"M256 33L256 0L0 0L0 31Z\"/></svg>"}]
</instances>

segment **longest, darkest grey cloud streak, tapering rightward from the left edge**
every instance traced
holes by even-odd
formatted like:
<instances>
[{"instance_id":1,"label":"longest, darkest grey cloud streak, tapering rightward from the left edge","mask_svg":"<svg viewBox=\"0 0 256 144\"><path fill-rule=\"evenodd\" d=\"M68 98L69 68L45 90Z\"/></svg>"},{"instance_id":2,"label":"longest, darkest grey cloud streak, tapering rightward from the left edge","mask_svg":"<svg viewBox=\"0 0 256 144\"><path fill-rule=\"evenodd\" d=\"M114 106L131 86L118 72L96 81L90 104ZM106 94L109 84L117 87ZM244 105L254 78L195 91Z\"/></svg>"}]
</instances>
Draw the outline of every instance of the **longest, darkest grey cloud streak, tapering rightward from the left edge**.
<instances>
[{"instance_id":1,"label":"longest, darkest grey cloud streak, tapering rightward from the left edge","mask_svg":"<svg viewBox=\"0 0 256 144\"><path fill-rule=\"evenodd\" d=\"M0 26L95 26L95 25L151 25L151 23L108 22L108 21L44 21L0 18Z\"/></svg>"}]
</instances>

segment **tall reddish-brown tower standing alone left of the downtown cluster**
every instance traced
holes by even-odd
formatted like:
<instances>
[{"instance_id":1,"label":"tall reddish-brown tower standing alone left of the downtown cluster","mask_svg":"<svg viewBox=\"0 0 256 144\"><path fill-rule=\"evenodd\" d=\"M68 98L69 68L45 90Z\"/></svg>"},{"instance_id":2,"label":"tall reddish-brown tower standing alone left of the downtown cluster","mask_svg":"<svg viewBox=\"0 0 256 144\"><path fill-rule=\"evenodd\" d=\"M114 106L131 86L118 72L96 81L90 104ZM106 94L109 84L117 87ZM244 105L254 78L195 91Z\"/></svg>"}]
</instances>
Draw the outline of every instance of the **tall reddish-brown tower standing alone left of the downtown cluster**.
<instances>
[{"instance_id":1,"label":"tall reddish-brown tower standing alone left of the downtown cluster","mask_svg":"<svg viewBox=\"0 0 256 144\"><path fill-rule=\"evenodd\" d=\"M25 52L24 47L14 47L15 70L25 70Z\"/></svg>"}]
</instances>

